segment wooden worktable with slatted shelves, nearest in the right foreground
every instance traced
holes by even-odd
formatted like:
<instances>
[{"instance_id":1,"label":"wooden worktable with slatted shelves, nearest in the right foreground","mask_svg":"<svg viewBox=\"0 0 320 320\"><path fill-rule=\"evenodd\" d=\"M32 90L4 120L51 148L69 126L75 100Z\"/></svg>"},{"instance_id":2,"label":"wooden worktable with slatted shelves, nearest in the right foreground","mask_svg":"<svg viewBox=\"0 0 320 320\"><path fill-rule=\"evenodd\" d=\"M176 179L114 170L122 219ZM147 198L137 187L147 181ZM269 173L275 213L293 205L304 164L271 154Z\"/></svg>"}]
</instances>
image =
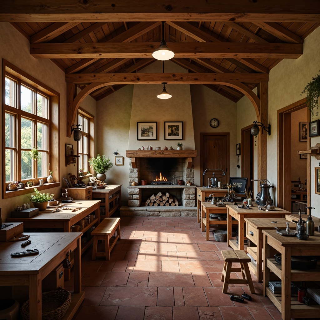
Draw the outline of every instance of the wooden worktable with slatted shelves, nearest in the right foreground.
<instances>
[{"instance_id":1,"label":"wooden worktable with slatted shelves, nearest in the right foreground","mask_svg":"<svg viewBox=\"0 0 320 320\"><path fill-rule=\"evenodd\" d=\"M320 305L306 306L291 297L292 281L320 281L320 267L310 270L291 269L291 256L318 255L320 251L320 233L315 232L307 240L299 240L296 236L282 236L276 230L262 230L264 234L263 260L263 294L274 303L281 312L281 319L291 318L317 318L319 319ZM271 249L281 253L281 265L275 263ZM281 295L269 289L270 271L278 276L282 282Z\"/></svg>"}]
</instances>

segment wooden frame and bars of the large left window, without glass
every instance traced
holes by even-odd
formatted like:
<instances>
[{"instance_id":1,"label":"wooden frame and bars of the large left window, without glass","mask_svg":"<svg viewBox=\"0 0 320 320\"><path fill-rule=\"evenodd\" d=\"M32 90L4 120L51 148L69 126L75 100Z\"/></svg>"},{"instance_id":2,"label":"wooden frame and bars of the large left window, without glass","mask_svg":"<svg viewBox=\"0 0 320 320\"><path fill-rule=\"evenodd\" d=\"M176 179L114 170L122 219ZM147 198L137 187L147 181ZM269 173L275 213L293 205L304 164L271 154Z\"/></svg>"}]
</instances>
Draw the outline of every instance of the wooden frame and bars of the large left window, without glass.
<instances>
[{"instance_id":1,"label":"wooden frame and bars of the large left window, without glass","mask_svg":"<svg viewBox=\"0 0 320 320\"><path fill-rule=\"evenodd\" d=\"M47 85L41 83L36 78L28 75L21 69L15 67L7 60L2 60L2 80L3 84L5 84L6 77L9 79L12 79L12 81L17 82L16 91L14 92L16 97L16 103L15 105L17 108L6 105L5 101L5 85L3 85L3 101L2 101L2 123L3 123L3 148L2 148L2 158L3 158L3 199L5 198L11 198L14 196L19 196L22 194L28 194L33 192L33 188L38 188L38 190L42 189L48 189L48 188L54 188L60 186L60 94L53 90L52 88L48 87ZM51 105L51 107L48 106L48 119L39 116L37 114L29 113L27 111L21 110L20 107L20 100L19 92L21 88L21 84L27 87L28 89L34 91L33 97L34 99L37 99L37 94L40 94L48 99L48 104ZM36 107L36 104L35 104ZM14 123L15 128L14 130L14 147L13 148L7 148L5 145L5 116L6 114L12 114L14 115ZM21 148L21 117L30 119L33 121L33 141L32 141L32 147L37 147L37 125L38 124L45 124L47 125L47 150L44 149L38 149L39 151L46 152L47 153L47 168L46 171L49 172L49 170L54 171L54 183L47 183L46 176L42 177L36 177L31 179L23 179L21 180L21 150L25 150L26 148ZM33 182L32 187L26 187L24 189L18 189L9 191L7 190L8 183L12 182L6 182L6 172L5 172L5 153L8 149L14 149L14 157L15 157L15 165L13 168L15 178L17 178L18 181L26 182L28 180ZM31 148L32 149L32 148ZM29 151L30 149L27 148ZM32 160L33 161L33 160ZM37 162L33 165L33 173L37 174ZM50 166L49 166L50 164ZM49 175L49 173L48 173ZM39 179L44 179L45 183L43 186L39 185ZM14 180L14 181L17 181Z\"/></svg>"}]
</instances>

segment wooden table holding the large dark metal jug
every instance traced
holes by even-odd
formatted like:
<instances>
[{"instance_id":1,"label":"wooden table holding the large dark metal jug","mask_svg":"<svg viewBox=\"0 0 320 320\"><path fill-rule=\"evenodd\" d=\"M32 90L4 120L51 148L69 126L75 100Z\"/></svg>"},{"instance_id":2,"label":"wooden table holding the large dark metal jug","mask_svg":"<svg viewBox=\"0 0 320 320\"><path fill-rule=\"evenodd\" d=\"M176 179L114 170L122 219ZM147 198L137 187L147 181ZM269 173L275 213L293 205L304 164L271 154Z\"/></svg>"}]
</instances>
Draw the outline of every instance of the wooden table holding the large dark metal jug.
<instances>
[{"instance_id":1,"label":"wooden table holding the large dark metal jug","mask_svg":"<svg viewBox=\"0 0 320 320\"><path fill-rule=\"evenodd\" d=\"M250 209L241 209L235 204L227 204L226 207L228 208L228 246L233 250L244 250L244 218L284 218L285 214L290 213L278 207L275 207L274 211L259 210L257 204L252 204ZM232 218L238 221L238 244L232 239Z\"/></svg>"}]
</instances>

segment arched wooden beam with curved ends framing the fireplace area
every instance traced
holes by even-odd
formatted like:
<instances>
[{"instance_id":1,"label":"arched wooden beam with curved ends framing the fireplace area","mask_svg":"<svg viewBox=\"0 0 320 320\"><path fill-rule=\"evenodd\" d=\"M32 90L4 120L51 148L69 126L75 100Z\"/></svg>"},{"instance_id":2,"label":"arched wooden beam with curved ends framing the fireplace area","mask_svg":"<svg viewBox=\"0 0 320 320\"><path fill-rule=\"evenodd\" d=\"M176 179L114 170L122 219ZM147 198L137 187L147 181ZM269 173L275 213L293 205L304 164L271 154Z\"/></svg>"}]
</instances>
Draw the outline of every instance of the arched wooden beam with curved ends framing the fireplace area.
<instances>
[{"instance_id":1,"label":"arched wooden beam with curved ends framing the fireplace area","mask_svg":"<svg viewBox=\"0 0 320 320\"><path fill-rule=\"evenodd\" d=\"M78 83L81 82L81 75L79 76ZM91 92L113 84L159 84L161 82L166 82L168 84L222 84L232 88L235 88L242 92L248 99L252 102L253 107L256 111L258 121L260 121L260 99L257 95L249 89L246 85L239 82L239 78L236 76L234 78L229 76L229 81L221 81L215 78L214 75L210 74L186 74L186 73L177 73L177 74L151 74L151 73L139 73L139 74L111 74L110 79L104 82L94 82L88 84L81 92L79 92L73 100L73 105L71 108L67 109L67 133L70 131L70 124L73 124L76 120L76 114L81 102L84 98ZM83 81L83 80L82 80ZM68 88L68 87L67 87ZM71 134L71 133L70 133ZM68 135L68 134L67 134ZM69 136L69 135L68 135Z\"/></svg>"}]
</instances>

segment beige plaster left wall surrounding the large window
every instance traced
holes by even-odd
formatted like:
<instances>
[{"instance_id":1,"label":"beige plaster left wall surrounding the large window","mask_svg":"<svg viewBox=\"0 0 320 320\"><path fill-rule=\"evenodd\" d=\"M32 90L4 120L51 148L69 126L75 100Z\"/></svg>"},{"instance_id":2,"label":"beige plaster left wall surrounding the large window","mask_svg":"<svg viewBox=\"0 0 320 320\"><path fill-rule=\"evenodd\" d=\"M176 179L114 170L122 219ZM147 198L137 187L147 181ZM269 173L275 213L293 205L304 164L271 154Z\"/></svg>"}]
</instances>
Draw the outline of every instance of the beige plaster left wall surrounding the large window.
<instances>
[{"instance_id":1,"label":"beige plaster left wall surrounding the large window","mask_svg":"<svg viewBox=\"0 0 320 320\"><path fill-rule=\"evenodd\" d=\"M63 177L68 177L68 172L76 174L76 166L65 165L65 144L72 144L76 150L76 141L66 136L66 82L65 73L58 68L52 61L47 59L35 59L30 56L29 41L23 37L9 23L0 24L0 58L5 59L35 77L37 80L48 85L53 90L60 93L60 181ZM2 74L2 64L0 66ZM1 90L2 99L2 90ZM2 100L1 100L2 101ZM95 101L88 97L82 103L82 107L90 113L95 114ZM1 104L2 114L2 104ZM2 139L0 140L0 148L2 150ZM0 185L2 186L2 166L0 172ZM55 176L57 172L53 172ZM61 184L64 186L64 184ZM1 187L2 188L2 187ZM46 192L53 193L57 198L61 197L61 188L47 189ZM11 211L18 205L30 203L28 195L16 196L10 199L1 199L0 207L2 208L2 217L5 219L10 216Z\"/></svg>"}]
</instances>

